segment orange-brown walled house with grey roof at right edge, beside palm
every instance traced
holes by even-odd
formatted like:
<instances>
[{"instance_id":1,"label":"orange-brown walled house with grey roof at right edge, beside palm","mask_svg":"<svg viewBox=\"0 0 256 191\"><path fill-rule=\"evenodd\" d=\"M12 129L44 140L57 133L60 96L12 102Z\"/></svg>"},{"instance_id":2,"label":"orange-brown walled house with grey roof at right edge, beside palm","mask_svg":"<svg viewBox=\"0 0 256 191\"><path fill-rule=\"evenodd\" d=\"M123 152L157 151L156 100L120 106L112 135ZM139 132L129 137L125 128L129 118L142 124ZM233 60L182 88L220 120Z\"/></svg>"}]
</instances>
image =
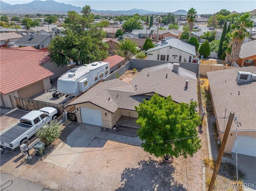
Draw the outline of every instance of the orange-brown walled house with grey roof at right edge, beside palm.
<instances>
[{"instance_id":1,"label":"orange-brown walled house with grey roof at right edge, beside palm","mask_svg":"<svg viewBox=\"0 0 256 191\"><path fill-rule=\"evenodd\" d=\"M240 66L256 66L256 41L249 41L243 43L241 46L238 61L236 63Z\"/></svg>"}]
</instances>

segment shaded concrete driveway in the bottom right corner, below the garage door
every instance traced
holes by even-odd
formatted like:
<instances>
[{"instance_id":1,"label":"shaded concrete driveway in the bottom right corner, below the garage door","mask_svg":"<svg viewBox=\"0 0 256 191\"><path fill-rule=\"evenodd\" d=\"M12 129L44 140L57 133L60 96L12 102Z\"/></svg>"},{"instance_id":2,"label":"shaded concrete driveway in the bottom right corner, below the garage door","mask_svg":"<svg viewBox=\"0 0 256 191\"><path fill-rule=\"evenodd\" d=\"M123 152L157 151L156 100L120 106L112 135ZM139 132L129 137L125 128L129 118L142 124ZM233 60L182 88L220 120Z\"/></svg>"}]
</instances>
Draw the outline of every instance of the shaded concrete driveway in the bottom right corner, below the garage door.
<instances>
[{"instance_id":1,"label":"shaded concrete driveway in the bottom right corner, below the garage door","mask_svg":"<svg viewBox=\"0 0 256 191\"><path fill-rule=\"evenodd\" d=\"M232 153L234 165L236 165L236 154ZM246 155L237 155L238 168L246 173L244 184L248 184L248 188L244 188L245 191L256 190L256 158ZM252 185L250 185L251 183Z\"/></svg>"}]
</instances>

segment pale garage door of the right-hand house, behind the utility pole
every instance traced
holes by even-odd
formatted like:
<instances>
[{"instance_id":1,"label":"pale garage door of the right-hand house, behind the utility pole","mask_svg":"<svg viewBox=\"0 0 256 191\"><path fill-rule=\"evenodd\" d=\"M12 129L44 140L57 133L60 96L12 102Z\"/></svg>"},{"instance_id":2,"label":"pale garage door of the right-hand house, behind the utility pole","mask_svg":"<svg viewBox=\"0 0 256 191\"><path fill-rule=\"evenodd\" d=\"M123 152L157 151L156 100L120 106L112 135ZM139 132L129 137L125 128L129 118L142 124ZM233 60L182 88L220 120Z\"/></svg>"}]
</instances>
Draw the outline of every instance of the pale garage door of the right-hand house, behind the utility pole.
<instances>
[{"instance_id":1,"label":"pale garage door of the right-hand house, behind the utility pole","mask_svg":"<svg viewBox=\"0 0 256 191\"><path fill-rule=\"evenodd\" d=\"M247 137L247 136L238 136L237 137L237 146L236 141L232 149L232 153L254 156L256 157L256 138Z\"/></svg>"}]
</instances>

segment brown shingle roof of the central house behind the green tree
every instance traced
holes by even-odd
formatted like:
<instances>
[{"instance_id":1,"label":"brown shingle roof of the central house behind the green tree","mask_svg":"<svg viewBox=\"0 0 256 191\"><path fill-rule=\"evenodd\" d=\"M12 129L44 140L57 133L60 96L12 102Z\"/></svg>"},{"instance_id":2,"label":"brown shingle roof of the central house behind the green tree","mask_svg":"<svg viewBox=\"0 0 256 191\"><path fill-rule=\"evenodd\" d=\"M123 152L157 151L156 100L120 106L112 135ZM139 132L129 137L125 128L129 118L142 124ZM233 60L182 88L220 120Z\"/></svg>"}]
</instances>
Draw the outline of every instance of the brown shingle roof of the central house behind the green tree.
<instances>
[{"instance_id":1,"label":"brown shingle roof of the central house behind the green tree","mask_svg":"<svg viewBox=\"0 0 256 191\"><path fill-rule=\"evenodd\" d=\"M171 63L166 63L143 69L129 84L120 79L101 82L69 105L90 102L114 113L118 108L135 110L134 106L138 106L143 98L150 98L150 93L171 95L178 103L197 100L196 74L179 67L177 75L172 67ZM189 80L188 89L184 89L186 80Z\"/></svg>"}]
</instances>

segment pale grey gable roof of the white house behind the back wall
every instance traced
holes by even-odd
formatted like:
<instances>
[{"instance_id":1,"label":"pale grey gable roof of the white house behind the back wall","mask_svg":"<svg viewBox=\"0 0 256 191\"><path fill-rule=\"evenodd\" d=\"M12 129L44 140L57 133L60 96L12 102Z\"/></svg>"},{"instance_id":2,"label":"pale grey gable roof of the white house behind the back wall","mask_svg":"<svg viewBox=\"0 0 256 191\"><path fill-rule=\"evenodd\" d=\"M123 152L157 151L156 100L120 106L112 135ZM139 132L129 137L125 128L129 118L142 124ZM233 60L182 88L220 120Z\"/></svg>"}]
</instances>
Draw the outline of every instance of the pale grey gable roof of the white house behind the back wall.
<instances>
[{"instance_id":1,"label":"pale grey gable roof of the white house behind the back wall","mask_svg":"<svg viewBox=\"0 0 256 191\"><path fill-rule=\"evenodd\" d=\"M194 56L196 55L195 46L193 46L189 43L186 43L184 41L181 41L181 40L175 39L175 38L168 39L168 40L166 40L166 42L167 43L165 45L161 45L161 43L159 43L156 47L148 49L145 53L171 46L171 47L174 47L174 48L179 49L181 51L184 51L186 53L189 53L191 55L194 55Z\"/></svg>"}]
</instances>

